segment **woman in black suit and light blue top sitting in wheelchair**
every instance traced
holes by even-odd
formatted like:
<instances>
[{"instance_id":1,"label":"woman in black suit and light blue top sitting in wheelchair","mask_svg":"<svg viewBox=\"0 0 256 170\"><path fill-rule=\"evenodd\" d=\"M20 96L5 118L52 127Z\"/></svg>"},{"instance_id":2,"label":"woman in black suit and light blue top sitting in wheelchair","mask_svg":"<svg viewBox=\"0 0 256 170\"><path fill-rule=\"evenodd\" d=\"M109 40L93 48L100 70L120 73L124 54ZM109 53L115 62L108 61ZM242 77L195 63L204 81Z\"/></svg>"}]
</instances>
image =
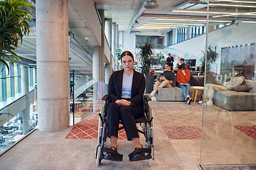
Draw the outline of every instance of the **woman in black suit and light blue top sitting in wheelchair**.
<instances>
[{"instance_id":1,"label":"woman in black suit and light blue top sitting in wheelchair","mask_svg":"<svg viewBox=\"0 0 256 170\"><path fill-rule=\"evenodd\" d=\"M117 151L119 120L124 125L127 140L132 140L135 149L142 148L135 119L144 115L143 97L146 81L143 74L132 68L132 52L122 52L121 63L123 69L112 73L108 90L111 103L107 107L107 136L110 137L110 149L114 151ZM107 152L105 157L109 160L117 159L112 152ZM143 158L144 153L139 152L134 157Z\"/></svg>"}]
</instances>

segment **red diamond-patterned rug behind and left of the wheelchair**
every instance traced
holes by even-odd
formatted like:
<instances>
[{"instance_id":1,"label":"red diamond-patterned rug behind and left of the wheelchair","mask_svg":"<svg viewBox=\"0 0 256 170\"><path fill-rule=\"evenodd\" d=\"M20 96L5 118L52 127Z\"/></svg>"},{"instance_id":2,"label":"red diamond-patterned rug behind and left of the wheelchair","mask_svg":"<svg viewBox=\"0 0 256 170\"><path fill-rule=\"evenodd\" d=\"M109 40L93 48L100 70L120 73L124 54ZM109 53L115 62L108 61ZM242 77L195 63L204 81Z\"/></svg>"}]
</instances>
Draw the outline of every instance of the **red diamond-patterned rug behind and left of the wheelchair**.
<instances>
[{"instance_id":1,"label":"red diamond-patterned rug behind and left of the wheelchair","mask_svg":"<svg viewBox=\"0 0 256 170\"><path fill-rule=\"evenodd\" d=\"M75 140L97 140L98 138L98 125L99 125L99 114L100 109L97 110L92 115L88 116L84 120L80 121L80 123L75 124L75 126L70 130L65 139L75 139ZM127 135L123 130L119 130L118 132L119 140L126 140Z\"/></svg>"}]
</instances>

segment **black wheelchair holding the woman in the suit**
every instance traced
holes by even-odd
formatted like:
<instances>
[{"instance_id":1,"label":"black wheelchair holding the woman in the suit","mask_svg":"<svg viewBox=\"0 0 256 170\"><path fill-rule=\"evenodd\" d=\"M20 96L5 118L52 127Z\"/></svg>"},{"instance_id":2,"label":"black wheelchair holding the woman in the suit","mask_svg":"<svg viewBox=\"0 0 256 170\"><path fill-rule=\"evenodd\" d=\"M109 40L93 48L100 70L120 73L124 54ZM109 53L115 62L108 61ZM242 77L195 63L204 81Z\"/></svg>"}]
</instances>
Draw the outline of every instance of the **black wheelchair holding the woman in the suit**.
<instances>
[{"instance_id":1,"label":"black wheelchair holding the woman in the suit","mask_svg":"<svg viewBox=\"0 0 256 170\"><path fill-rule=\"evenodd\" d=\"M102 159L105 158L105 154L107 152L112 152L115 157L117 157L117 160L112 161L119 161L122 162L122 154L117 153L117 151L113 151L112 149L106 147L107 142L107 106L110 103L110 99L107 95L103 96L102 101L105 101L105 106L102 107L101 112L98 114L100 116L99 118L99 127L98 127L98 139L99 139L99 145L97 145L96 149L96 164L97 166L100 166ZM154 145L153 145L153 139L154 139L154 120L153 120L153 111L151 107L149 106L148 101L151 101L151 98L148 95L144 95L144 115L141 118L138 118L135 120L135 123L141 127L141 129L138 128L138 132L142 133L146 139L146 148L142 149L136 149L134 152L129 154L129 161L141 161L145 159L149 159L149 166L152 164L152 159L154 160ZM120 121L119 124L122 124ZM139 127L137 126L137 127ZM123 126L119 127L118 130L124 129ZM152 152L153 150L153 152ZM134 155L138 152L144 152L144 159L133 159Z\"/></svg>"}]
</instances>

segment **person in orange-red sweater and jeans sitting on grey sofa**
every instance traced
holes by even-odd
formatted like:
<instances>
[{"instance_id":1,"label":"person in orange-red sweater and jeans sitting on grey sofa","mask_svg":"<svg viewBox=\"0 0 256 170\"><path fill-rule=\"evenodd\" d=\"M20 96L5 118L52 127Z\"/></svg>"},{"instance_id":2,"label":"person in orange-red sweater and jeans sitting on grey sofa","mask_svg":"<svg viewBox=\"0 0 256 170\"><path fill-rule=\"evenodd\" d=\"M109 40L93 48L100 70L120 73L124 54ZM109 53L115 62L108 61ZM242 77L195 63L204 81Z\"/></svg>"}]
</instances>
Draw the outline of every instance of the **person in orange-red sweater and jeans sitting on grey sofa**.
<instances>
[{"instance_id":1,"label":"person in orange-red sweater and jeans sitting on grey sofa","mask_svg":"<svg viewBox=\"0 0 256 170\"><path fill-rule=\"evenodd\" d=\"M183 64L182 69L178 69L177 72L177 86L182 89L185 101L190 104L192 98L189 96L190 94L190 84L188 81L190 80L191 71L189 70L188 64Z\"/></svg>"}]
</instances>

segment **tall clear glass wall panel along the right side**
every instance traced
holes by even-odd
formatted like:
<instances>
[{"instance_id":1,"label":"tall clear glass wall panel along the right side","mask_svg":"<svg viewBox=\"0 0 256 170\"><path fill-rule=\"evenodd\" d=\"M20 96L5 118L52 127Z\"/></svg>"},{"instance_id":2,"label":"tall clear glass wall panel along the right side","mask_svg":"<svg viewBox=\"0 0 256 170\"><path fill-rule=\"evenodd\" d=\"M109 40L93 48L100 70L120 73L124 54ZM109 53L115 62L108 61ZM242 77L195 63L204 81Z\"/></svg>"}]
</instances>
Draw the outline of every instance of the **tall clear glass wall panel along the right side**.
<instances>
[{"instance_id":1,"label":"tall clear glass wall panel along the right side","mask_svg":"<svg viewBox=\"0 0 256 170\"><path fill-rule=\"evenodd\" d=\"M211 3L229 8L218 8L214 14L216 8L210 7L209 19L215 16L231 23L208 23L201 168L255 169L256 22L250 11L256 4L245 8L248 1Z\"/></svg>"}]
</instances>

